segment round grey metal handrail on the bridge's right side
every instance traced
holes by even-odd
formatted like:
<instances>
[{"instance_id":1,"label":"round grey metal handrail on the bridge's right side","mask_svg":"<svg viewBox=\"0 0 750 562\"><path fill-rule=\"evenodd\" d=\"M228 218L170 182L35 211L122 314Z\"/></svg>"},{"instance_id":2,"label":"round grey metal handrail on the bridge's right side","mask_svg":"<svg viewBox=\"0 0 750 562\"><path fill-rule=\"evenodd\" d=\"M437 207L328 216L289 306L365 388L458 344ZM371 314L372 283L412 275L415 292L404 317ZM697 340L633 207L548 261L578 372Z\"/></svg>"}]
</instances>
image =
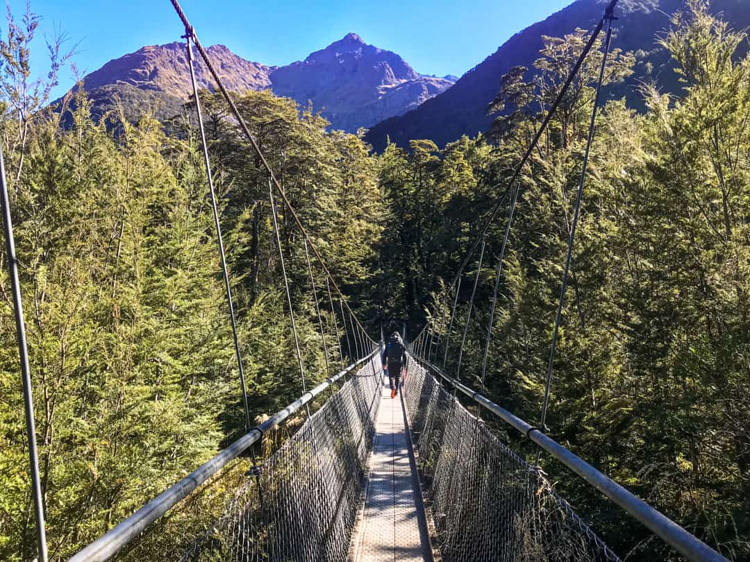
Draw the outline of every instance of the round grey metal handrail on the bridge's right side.
<instances>
[{"instance_id":1,"label":"round grey metal handrail on the bridge's right side","mask_svg":"<svg viewBox=\"0 0 750 562\"><path fill-rule=\"evenodd\" d=\"M663 513L660 513L658 510L649 506L649 504L646 504L645 501L637 498L631 492L628 492L627 489L623 488L610 477L607 477L605 474L592 467L592 465L589 465L589 463L557 443L557 441L544 435L544 433L537 427L526 423L526 421L511 414L509 411L505 410L505 408L496 405L488 399L487 396L472 390L467 387L466 384L463 384L455 378L452 378L450 375L447 375L443 369L440 369L440 367L434 363L416 357L411 352L410 356L419 363L422 363L422 365L427 367L429 371L439 375L440 378L443 378L456 390L460 390L461 393L469 396L474 402L487 408L487 410L491 411L505 423L508 423L509 426L512 426L522 435L525 435L526 438L547 451L547 453L550 453L555 459L562 462L563 465L570 468L571 471L583 478L583 480L586 480L586 483L589 483L604 496L609 498L614 504L622 507L622 509L633 516L634 519L637 519L637 521L648 528L649 531L652 531L658 537L661 537L665 543L681 555L685 556L688 560L695 562L729 562L727 558L724 558L710 546L706 545L706 543L703 543L702 540L690 534L688 531L685 531L684 528L677 525Z\"/></svg>"}]
</instances>

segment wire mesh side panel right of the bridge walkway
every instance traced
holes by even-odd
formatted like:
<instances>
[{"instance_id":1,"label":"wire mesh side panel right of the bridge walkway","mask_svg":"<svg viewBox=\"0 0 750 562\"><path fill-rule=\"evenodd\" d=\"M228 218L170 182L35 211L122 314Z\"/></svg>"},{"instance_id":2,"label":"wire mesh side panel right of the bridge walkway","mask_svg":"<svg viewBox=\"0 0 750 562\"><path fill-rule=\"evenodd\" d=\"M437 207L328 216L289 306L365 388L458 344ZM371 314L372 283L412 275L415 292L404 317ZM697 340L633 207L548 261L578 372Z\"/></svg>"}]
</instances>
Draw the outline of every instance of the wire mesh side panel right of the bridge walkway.
<instances>
[{"instance_id":1,"label":"wire mesh side panel right of the bridge walkway","mask_svg":"<svg viewBox=\"0 0 750 562\"><path fill-rule=\"evenodd\" d=\"M444 562L619 561L537 468L409 363L404 399Z\"/></svg>"}]
</instances>

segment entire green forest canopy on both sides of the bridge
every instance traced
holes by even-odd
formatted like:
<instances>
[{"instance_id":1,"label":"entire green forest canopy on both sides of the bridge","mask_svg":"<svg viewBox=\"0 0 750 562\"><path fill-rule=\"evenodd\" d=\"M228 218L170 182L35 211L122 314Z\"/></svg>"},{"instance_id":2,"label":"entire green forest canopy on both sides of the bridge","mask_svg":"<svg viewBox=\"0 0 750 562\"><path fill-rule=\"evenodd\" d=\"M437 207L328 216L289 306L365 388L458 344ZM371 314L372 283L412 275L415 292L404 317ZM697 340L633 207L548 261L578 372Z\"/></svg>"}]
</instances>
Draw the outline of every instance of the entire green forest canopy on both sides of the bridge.
<instances>
[{"instance_id":1,"label":"entire green forest canopy on both sides of the bridge","mask_svg":"<svg viewBox=\"0 0 750 562\"><path fill-rule=\"evenodd\" d=\"M11 25L0 43L0 141L26 309L49 551L59 560L210 458L244 424L194 104L184 103L174 118L133 122L116 103L94 108L79 90L53 112L48 84L31 87L31 16ZM269 91L238 94L276 177L374 339L383 319L398 318L407 321L407 336L428 323L447 341L450 282L489 209L511 193L514 166L587 37L580 29L544 37L535 78L518 67L497 85L488 108L496 120L487 134L443 148L415 139L408 149L392 144L374 154L361 136L330 130L310 107ZM682 95L643 84L646 112L610 100L596 120L547 430L727 558L745 560L750 57L742 53L748 37L691 0L659 41L682 78ZM600 49L522 171L484 381L510 197L487 232L481 268L475 257L458 293L449 371L478 276L461 378L484 384L490 398L527 420L538 419L544 393ZM49 83L67 62L60 49L52 55ZM629 76L633 64L631 53L613 50L605 89ZM20 91L28 93L12 94ZM302 393L269 178L220 95L204 91L201 102L249 402L262 419ZM283 207L279 220L311 384L347 362L343 322L350 319L338 303L328 306L326 277L314 262L320 303L327 306L323 357L302 233ZM34 555L34 520L5 247L0 261L0 558L23 561ZM290 420L285 431L302 420ZM533 459L535 451L496 429ZM565 468L544 456L542 465L623 558L677 559ZM220 509L229 489L226 481L212 486L206 513ZM208 522L191 512L171 525ZM162 559L160 548L140 559Z\"/></svg>"}]
</instances>

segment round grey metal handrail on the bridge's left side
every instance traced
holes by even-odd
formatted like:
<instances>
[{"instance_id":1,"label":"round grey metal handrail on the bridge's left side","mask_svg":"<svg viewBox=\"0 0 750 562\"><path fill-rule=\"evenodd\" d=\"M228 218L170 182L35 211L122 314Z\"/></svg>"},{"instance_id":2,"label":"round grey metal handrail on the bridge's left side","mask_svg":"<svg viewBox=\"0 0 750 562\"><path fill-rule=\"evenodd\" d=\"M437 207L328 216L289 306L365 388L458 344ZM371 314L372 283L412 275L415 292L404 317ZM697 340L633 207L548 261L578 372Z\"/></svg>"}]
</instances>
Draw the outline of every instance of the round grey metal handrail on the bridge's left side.
<instances>
[{"instance_id":1,"label":"round grey metal handrail on the bridge's left side","mask_svg":"<svg viewBox=\"0 0 750 562\"><path fill-rule=\"evenodd\" d=\"M112 558L123 546L130 543L136 537L139 537L149 525L172 509L179 501L186 498L190 492L193 492L193 490L220 471L230 461L236 459L248 447L260 441L263 435L269 432L269 430L274 429L279 423L299 410L299 408L311 402L312 399L323 393L326 388L330 387L340 378L349 374L368 360L372 360L379 352L380 348L375 349L367 357L362 357L362 359L348 366L337 375L326 379L325 382L319 384L313 390L308 390L308 392L300 396L286 408L278 411L269 420L242 435L241 438L229 445L229 447L226 447L226 449L222 450L212 459L204 462L193 472L169 487L169 489L157 495L156 498L149 501L148 504L145 504L136 513L133 513L133 515L115 525L115 527L89 544L89 546L77 552L77 554L68 559L68 562L102 562Z\"/></svg>"}]
</instances>

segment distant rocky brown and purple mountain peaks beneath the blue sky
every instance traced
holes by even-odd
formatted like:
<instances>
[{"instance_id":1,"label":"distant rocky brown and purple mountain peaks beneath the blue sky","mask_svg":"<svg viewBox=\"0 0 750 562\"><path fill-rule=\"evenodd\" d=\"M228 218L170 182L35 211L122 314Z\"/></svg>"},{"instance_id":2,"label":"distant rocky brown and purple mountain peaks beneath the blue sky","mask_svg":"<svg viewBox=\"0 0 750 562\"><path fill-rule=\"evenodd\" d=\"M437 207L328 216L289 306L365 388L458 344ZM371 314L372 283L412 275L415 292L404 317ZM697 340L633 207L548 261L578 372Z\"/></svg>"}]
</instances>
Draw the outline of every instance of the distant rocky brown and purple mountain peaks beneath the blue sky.
<instances>
[{"instance_id":1,"label":"distant rocky brown and purple mountain peaks beneath the blue sky","mask_svg":"<svg viewBox=\"0 0 750 562\"><path fill-rule=\"evenodd\" d=\"M395 52L368 45L351 33L285 67L245 60L223 45L206 50L230 91L271 88L302 105L311 101L332 127L347 132L403 115L455 81L422 76ZM199 88L213 90L199 57L196 79ZM159 118L175 115L192 91L184 43L142 47L90 73L83 85L97 115L118 104L127 118L145 111Z\"/></svg>"}]
</instances>

